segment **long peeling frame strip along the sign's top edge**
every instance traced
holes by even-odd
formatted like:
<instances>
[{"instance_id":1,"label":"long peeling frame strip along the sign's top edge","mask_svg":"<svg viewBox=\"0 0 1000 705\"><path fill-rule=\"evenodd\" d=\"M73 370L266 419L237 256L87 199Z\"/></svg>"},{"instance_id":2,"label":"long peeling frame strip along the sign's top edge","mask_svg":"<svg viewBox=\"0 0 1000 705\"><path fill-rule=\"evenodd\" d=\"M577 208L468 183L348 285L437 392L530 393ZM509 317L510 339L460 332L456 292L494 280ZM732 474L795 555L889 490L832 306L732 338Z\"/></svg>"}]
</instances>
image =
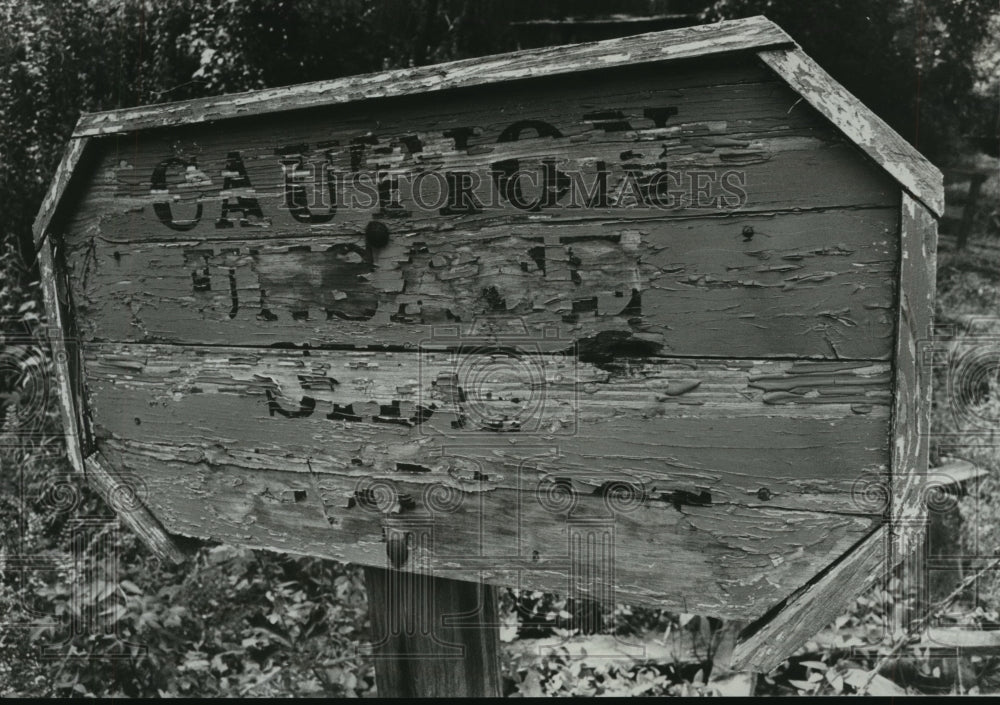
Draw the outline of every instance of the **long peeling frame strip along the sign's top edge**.
<instances>
[{"instance_id":1,"label":"long peeling frame strip along the sign's top edge","mask_svg":"<svg viewBox=\"0 0 1000 705\"><path fill-rule=\"evenodd\" d=\"M651 32L601 42L546 47L465 59L433 66L318 81L216 98L142 106L83 115L75 136L131 132L224 118L285 112L354 101L426 94L615 67L704 57L790 44L780 27L764 17Z\"/></svg>"}]
</instances>

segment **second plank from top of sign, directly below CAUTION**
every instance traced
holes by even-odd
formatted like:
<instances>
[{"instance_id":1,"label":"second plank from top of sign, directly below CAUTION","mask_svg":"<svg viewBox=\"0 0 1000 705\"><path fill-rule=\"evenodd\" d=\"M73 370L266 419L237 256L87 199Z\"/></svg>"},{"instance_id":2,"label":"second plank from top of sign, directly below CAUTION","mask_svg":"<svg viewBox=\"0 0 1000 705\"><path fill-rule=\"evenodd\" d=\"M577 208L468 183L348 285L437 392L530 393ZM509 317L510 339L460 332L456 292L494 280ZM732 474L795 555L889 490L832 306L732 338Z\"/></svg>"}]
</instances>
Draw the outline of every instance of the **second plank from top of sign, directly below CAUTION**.
<instances>
[{"instance_id":1,"label":"second plank from top of sign, directly below CAUTION","mask_svg":"<svg viewBox=\"0 0 1000 705\"><path fill-rule=\"evenodd\" d=\"M77 305L90 340L430 347L516 316L507 334L556 349L616 331L648 355L888 359L898 220L485 226L402 233L375 254L361 236L98 239L77 258Z\"/></svg>"}]
</instances>

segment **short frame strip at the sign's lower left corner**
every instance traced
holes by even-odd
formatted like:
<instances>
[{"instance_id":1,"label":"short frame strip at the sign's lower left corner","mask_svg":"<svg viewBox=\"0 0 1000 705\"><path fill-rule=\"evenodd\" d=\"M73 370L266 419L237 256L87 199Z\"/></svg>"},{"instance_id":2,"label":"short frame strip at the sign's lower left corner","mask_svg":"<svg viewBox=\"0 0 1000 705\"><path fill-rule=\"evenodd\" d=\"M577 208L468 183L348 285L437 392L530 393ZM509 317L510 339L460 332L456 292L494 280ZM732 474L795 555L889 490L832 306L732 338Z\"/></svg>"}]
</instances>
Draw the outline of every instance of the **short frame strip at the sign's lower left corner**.
<instances>
[{"instance_id":1,"label":"short frame strip at the sign's lower left corner","mask_svg":"<svg viewBox=\"0 0 1000 705\"><path fill-rule=\"evenodd\" d=\"M100 452L91 453L84 461L87 484L97 490L115 514L160 560L183 563L188 553L163 530L145 502L147 489L142 478L122 475L109 465Z\"/></svg>"}]
</instances>

